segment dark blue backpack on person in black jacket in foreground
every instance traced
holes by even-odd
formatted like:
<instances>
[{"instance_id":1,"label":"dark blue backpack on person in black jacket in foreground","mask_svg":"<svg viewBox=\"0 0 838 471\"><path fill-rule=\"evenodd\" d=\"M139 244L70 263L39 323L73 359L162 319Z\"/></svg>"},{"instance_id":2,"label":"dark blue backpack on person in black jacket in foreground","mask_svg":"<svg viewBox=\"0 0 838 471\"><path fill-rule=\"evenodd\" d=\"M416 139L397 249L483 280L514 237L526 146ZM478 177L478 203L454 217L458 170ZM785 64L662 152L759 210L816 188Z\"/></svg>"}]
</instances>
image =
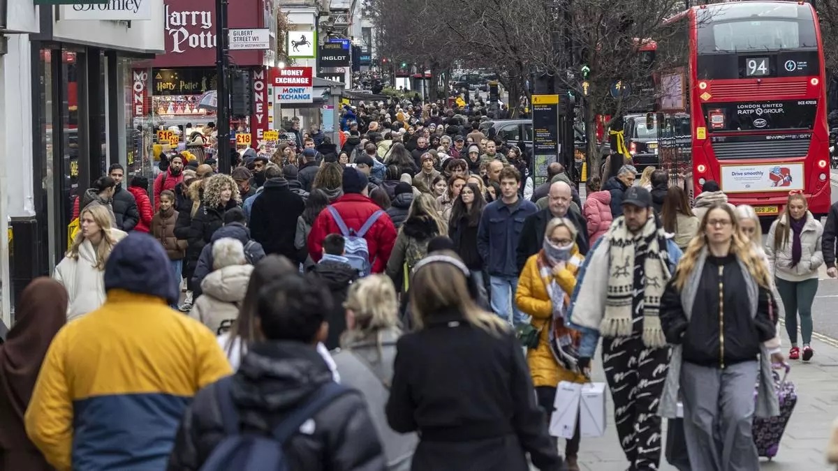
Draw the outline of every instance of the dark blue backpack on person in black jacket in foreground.
<instances>
[{"instance_id":1,"label":"dark blue backpack on person in black jacket in foreground","mask_svg":"<svg viewBox=\"0 0 838 471\"><path fill-rule=\"evenodd\" d=\"M232 376L219 380L215 384L215 395L221 409L221 422L224 423L225 438L209 454L201 471L291 471L282 446L314 414L328 406L338 396L350 391L334 381L330 381L316 391L313 397L288 413L273 430L272 435L242 433L239 427L239 413L235 410L230 395Z\"/></svg>"}]
</instances>

